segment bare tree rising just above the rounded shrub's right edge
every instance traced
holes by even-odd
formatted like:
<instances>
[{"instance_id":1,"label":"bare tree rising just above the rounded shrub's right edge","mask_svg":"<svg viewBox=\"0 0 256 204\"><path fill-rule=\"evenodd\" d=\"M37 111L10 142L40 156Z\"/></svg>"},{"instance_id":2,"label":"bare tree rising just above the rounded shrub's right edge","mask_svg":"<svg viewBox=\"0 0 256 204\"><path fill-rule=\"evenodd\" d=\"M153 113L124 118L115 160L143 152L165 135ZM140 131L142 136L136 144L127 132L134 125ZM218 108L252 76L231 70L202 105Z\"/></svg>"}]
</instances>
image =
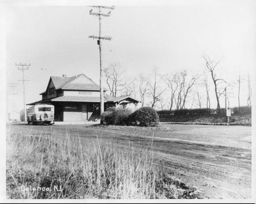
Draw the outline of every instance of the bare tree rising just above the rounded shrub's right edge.
<instances>
[{"instance_id":1,"label":"bare tree rising just above the rounded shrub's right edge","mask_svg":"<svg viewBox=\"0 0 256 204\"><path fill-rule=\"evenodd\" d=\"M149 83L149 95L152 96L151 107L154 108L157 105L157 102L161 100L161 95L165 91L159 88L160 80L158 79L160 76L158 75L157 68L154 69L151 74L151 80Z\"/></svg>"}]
</instances>

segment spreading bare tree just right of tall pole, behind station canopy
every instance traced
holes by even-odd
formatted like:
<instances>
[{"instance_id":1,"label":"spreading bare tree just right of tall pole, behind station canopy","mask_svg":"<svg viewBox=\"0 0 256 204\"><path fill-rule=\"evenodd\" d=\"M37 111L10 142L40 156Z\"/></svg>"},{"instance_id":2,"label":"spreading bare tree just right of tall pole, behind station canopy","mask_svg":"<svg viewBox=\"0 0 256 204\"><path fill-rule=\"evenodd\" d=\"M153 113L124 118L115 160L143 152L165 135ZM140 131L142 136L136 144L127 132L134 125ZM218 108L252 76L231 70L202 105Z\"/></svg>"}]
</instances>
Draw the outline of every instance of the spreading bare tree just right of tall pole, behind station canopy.
<instances>
[{"instance_id":1,"label":"spreading bare tree just right of tall pole, behind station canopy","mask_svg":"<svg viewBox=\"0 0 256 204\"><path fill-rule=\"evenodd\" d=\"M120 68L119 63L112 63L108 68L104 69L111 96L116 97L118 91L122 91L131 84L124 79L124 72L125 69Z\"/></svg>"}]
</instances>

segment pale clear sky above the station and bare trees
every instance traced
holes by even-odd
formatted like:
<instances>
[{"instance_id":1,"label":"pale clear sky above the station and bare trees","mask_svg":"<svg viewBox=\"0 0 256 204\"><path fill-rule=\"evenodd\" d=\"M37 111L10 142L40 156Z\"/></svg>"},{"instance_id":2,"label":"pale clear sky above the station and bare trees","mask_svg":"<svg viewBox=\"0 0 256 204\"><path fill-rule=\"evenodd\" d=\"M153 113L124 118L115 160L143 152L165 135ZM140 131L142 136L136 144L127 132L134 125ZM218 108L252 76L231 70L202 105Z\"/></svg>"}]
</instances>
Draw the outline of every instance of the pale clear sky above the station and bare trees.
<instances>
[{"instance_id":1,"label":"pale clear sky above the station and bare trees","mask_svg":"<svg viewBox=\"0 0 256 204\"><path fill-rule=\"evenodd\" d=\"M102 19L102 35L113 38L102 43L103 68L119 62L127 79L140 73L149 74L154 67L162 75L183 69L202 73L205 70L202 55L206 53L213 60L222 59L218 65L221 77L236 80L241 72L244 79L241 105L247 105L245 79L248 73L253 79L256 64L255 2L212 1L210 5L194 2L167 6L117 5L110 17ZM41 100L39 93L45 91L50 76L84 73L99 84L99 48L96 40L88 38L99 32L98 18L89 15L92 7L20 5L7 6L5 13L6 108L16 111L23 108L23 85L18 81L22 79L22 71L15 63L31 64L24 71L25 79L30 80L25 81L26 103ZM11 88L8 83L19 84ZM236 97L237 90L232 89L232 96ZM168 98L169 91L164 95ZM215 108L213 86L210 97ZM230 106L238 106L236 98L230 98Z\"/></svg>"}]
</instances>

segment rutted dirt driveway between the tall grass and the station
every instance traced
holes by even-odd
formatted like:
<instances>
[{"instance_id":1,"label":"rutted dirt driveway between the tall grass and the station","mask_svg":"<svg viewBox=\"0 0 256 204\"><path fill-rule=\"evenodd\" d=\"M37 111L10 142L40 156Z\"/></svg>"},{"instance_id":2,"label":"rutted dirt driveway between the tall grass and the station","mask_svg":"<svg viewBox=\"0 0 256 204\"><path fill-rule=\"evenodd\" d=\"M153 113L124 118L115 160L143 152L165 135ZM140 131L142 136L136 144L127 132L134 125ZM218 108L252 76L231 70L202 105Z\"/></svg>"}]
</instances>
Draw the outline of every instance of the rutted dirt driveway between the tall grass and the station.
<instances>
[{"instance_id":1,"label":"rutted dirt driveway between the tall grass and the station","mask_svg":"<svg viewBox=\"0 0 256 204\"><path fill-rule=\"evenodd\" d=\"M206 198L251 197L251 127L163 125L168 131L156 131L153 138L154 157L168 167L170 175L203 189ZM151 146L151 131L109 130L84 125L27 126L7 125L26 129L31 134L44 132L63 136L80 135L100 138L106 145L143 152Z\"/></svg>"}]
</instances>

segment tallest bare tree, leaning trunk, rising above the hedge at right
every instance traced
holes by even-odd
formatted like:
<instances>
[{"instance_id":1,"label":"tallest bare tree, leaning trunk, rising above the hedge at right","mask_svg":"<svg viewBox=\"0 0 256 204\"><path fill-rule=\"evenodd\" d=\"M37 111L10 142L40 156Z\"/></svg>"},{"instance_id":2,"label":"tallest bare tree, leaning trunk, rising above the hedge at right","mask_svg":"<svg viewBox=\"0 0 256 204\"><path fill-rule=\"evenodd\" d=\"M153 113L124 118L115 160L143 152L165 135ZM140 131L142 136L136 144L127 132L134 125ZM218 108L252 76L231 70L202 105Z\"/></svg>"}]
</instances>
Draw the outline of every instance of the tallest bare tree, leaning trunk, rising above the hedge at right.
<instances>
[{"instance_id":1,"label":"tallest bare tree, leaning trunk, rising above the hedge at right","mask_svg":"<svg viewBox=\"0 0 256 204\"><path fill-rule=\"evenodd\" d=\"M215 68L221 62L221 60L214 62L207 55L204 55L203 58L205 59L205 62L206 62L206 70L210 72L212 81L214 83L215 95L216 95L216 99L217 99L217 109L219 112L220 111L220 100L219 100L220 95L218 94L217 86L218 86L218 84L220 84L222 82L226 82L222 78L217 78L216 73L215 73ZM217 81L220 81L220 82L218 83Z\"/></svg>"}]
</instances>

